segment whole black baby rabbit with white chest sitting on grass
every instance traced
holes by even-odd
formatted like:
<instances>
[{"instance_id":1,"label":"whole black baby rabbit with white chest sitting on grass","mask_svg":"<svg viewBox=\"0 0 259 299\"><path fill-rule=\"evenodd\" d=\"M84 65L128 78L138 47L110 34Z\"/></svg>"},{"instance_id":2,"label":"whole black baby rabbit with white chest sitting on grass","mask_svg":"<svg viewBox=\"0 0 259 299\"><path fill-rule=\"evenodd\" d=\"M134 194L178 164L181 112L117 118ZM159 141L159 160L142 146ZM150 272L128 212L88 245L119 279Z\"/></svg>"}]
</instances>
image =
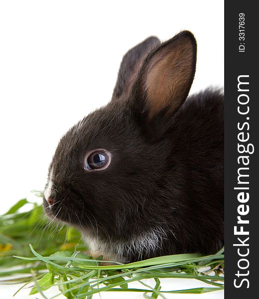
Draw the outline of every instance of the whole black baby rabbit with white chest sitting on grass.
<instances>
[{"instance_id":1,"label":"whole black baby rabbit with white chest sitting on grass","mask_svg":"<svg viewBox=\"0 0 259 299\"><path fill-rule=\"evenodd\" d=\"M188 96L196 41L150 37L124 56L110 103L60 140L44 208L90 253L132 262L224 244L223 94Z\"/></svg>"}]
</instances>

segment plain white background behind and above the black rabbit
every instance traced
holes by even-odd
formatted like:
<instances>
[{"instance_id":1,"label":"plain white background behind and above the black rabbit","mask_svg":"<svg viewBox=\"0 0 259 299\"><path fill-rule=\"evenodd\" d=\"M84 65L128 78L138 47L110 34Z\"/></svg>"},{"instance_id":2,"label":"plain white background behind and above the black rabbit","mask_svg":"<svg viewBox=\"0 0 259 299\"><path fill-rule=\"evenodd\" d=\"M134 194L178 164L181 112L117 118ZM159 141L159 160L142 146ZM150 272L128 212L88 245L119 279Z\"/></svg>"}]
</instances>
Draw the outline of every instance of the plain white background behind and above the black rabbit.
<instances>
[{"instance_id":1,"label":"plain white background behind and above the black rabbit","mask_svg":"<svg viewBox=\"0 0 259 299\"><path fill-rule=\"evenodd\" d=\"M43 190L60 137L111 99L127 50L182 29L198 42L191 93L223 87L223 0L0 1L0 213Z\"/></svg>"}]
</instances>

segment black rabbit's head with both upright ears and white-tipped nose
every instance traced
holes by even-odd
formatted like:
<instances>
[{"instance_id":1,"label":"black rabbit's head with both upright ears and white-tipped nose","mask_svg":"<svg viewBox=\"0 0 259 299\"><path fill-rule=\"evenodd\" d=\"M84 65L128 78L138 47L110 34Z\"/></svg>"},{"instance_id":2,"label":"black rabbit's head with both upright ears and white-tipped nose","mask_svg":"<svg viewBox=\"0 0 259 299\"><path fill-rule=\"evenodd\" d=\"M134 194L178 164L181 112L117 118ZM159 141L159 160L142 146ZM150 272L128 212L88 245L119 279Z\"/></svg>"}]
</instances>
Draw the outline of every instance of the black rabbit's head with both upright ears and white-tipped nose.
<instances>
[{"instance_id":1,"label":"black rabbit's head with both upright ears and white-tipped nose","mask_svg":"<svg viewBox=\"0 0 259 299\"><path fill-rule=\"evenodd\" d=\"M172 147L167 134L195 65L189 31L164 43L150 37L129 50L111 102L72 127L57 146L43 200L50 218L112 242L138 238L162 222L168 204L159 194L168 183Z\"/></svg>"}]
</instances>

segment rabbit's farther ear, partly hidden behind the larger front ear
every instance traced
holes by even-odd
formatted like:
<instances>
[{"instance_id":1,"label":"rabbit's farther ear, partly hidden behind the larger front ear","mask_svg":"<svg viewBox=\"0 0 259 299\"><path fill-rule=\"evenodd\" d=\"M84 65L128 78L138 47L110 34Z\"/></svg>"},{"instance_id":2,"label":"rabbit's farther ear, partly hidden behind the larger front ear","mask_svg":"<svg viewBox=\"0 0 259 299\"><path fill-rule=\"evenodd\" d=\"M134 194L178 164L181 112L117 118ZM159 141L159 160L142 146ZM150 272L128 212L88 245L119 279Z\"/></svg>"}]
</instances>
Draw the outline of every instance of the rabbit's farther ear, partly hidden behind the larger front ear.
<instances>
[{"instance_id":1,"label":"rabbit's farther ear, partly hidden behind the larger front ear","mask_svg":"<svg viewBox=\"0 0 259 299\"><path fill-rule=\"evenodd\" d=\"M123 94L128 94L144 58L159 44L159 39L151 36L124 55L112 100L120 98Z\"/></svg>"}]
</instances>

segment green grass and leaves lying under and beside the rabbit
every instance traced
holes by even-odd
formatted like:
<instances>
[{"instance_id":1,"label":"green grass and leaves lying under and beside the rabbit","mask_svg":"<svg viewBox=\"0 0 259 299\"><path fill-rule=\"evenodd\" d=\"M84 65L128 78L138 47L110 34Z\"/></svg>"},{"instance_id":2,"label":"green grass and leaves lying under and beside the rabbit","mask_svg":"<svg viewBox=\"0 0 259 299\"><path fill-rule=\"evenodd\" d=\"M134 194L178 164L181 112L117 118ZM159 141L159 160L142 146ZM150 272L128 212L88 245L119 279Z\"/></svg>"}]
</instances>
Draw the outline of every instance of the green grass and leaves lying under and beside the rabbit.
<instances>
[{"instance_id":1,"label":"green grass and leaves lying under and beside the rabbit","mask_svg":"<svg viewBox=\"0 0 259 299\"><path fill-rule=\"evenodd\" d=\"M28 212L20 211L24 206ZM27 199L18 201L0 216L0 284L32 286L30 295L39 293L46 299L44 292L53 286L58 286L59 292L48 299L60 294L68 299L91 299L94 294L111 291L166 298L170 293L202 294L224 289L223 250L210 256L180 254L107 266L102 257L94 260L83 254L84 250L79 232L49 224L42 206ZM212 273L202 272L201 268L208 266ZM163 278L196 279L207 286L163 291L160 285ZM153 287L146 284L146 279L154 281ZM131 287L136 281L141 289Z\"/></svg>"}]
</instances>

